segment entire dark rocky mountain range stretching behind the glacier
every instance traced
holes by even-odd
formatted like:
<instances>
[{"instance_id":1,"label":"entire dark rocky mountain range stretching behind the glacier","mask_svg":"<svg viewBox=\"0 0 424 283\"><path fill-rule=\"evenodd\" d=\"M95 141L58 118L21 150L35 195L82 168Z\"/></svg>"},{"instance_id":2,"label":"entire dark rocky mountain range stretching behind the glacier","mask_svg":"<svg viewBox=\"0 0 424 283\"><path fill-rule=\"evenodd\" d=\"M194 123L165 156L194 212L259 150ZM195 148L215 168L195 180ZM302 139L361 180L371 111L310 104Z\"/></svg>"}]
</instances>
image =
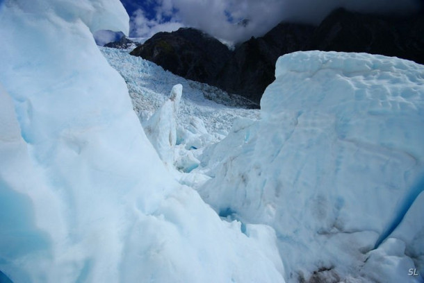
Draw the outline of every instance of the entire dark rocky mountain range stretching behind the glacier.
<instances>
[{"instance_id":1,"label":"entire dark rocky mountain range stretching behind the glacier","mask_svg":"<svg viewBox=\"0 0 424 283\"><path fill-rule=\"evenodd\" d=\"M174 74L220 87L259 103L275 79L277 58L294 51L366 52L424 64L424 12L408 17L365 15L342 8L319 26L282 22L263 37L230 51L194 28L157 33L131 55L155 62Z\"/></svg>"}]
</instances>

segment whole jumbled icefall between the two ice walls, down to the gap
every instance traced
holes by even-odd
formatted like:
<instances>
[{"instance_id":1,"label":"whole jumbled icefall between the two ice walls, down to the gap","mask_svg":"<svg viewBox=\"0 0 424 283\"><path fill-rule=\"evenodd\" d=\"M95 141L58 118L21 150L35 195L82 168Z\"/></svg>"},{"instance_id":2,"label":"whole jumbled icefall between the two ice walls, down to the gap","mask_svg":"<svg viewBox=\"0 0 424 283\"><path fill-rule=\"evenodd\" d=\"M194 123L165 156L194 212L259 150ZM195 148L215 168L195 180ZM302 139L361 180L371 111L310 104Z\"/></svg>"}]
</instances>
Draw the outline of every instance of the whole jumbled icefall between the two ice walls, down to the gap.
<instances>
[{"instance_id":1,"label":"whole jumbled icefall between the two ice walls, down to the gap","mask_svg":"<svg viewBox=\"0 0 424 283\"><path fill-rule=\"evenodd\" d=\"M238 96L229 96L216 87L176 76L152 62L129 55L129 51L106 47L100 47L100 50L109 64L120 72L127 83L133 109L145 127L150 141L156 144L156 150L158 149L156 139L167 135L160 132L162 130L169 132L169 130L167 127L156 127L152 130L149 124L153 120L150 121L150 119L155 116L158 120L159 115L164 121L177 126L177 144L171 146L172 150L170 146L165 146L167 154L165 151L158 151L158 155L167 164L168 169L171 171L177 169L172 173L181 184L198 187L209 179L209 176L202 172L204 160L201 162L199 156L202 155L204 148L222 140L228 134L235 119L259 118L259 110L234 107L234 104L239 101ZM163 108L165 104L170 103L168 94L174 85L182 85L183 92L179 101L178 114L172 116L171 111L169 113L172 117L168 117ZM173 157L170 157L172 154ZM170 166L172 165L170 160L173 160L173 166Z\"/></svg>"}]
</instances>

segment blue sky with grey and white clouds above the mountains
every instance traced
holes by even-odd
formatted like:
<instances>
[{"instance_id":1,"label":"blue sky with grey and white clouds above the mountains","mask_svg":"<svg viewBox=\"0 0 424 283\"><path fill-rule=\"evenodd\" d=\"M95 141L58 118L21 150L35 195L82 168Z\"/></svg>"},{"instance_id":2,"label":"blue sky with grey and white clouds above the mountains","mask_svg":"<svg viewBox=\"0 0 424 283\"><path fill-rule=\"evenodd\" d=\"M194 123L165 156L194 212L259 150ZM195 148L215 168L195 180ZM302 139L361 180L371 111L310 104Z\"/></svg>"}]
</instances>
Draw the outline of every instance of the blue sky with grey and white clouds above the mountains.
<instances>
[{"instance_id":1,"label":"blue sky with grey and white clouds above the mountains","mask_svg":"<svg viewBox=\"0 0 424 283\"><path fill-rule=\"evenodd\" d=\"M130 37L193 27L224 42L264 35L283 20L319 24L343 7L359 12L408 14L424 0L120 0L131 17ZM238 24L247 19L246 26ZM106 34L106 33L105 33ZM108 40L105 35L104 40Z\"/></svg>"}]
</instances>

